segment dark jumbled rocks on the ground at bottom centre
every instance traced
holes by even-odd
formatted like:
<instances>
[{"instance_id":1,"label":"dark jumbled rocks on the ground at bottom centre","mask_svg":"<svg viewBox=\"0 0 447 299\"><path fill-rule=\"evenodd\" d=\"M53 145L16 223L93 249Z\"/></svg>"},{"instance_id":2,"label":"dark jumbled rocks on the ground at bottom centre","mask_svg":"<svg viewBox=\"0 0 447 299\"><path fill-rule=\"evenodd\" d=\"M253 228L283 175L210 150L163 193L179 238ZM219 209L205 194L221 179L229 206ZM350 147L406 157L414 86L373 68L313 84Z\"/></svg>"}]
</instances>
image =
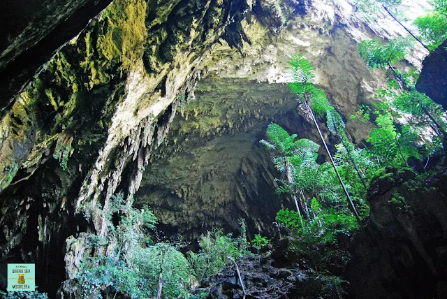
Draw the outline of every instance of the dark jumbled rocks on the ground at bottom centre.
<instances>
[{"instance_id":1,"label":"dark jumbled rocks on the ground at bottom centre","mask_svg":"<svg viewBox=\"0 0 447 299\"><path fill-rule=\"evenodd\" d=\"M281 250L279 244L273 246ZM281 267L272 253L274 251L268 251L237 262L247 293L245 298L339 298L330 282L308 268L304 260L288 259L287 265ZM234 265L203 282L196 289L196 292L201 291L209 292L207 299L244 297Z\"/></svg>"}]
</instances>

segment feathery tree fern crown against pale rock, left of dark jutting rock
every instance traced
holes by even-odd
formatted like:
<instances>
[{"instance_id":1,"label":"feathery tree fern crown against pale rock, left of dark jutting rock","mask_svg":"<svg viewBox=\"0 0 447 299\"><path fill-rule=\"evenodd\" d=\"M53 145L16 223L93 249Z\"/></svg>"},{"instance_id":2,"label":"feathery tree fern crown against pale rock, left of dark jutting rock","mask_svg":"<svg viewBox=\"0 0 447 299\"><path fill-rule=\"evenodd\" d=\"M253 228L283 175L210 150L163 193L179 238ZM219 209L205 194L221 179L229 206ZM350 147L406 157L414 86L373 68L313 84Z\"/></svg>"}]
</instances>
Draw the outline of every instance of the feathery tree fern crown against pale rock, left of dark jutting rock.
<instances>
[{"instance_id":1,"label":"feathery tree fern crown against pale rock, left of dark jutting rock","mask_svg":"<svg viewBox=\"0 0 447 299\"><path fill-rule=\"evenodd\" d=\"M358 52L369 68L383 68L404 59L411 48L408 38L394 38L383 45L377 40L365 40L358 44Z\"/></svg>"}]
</instances>

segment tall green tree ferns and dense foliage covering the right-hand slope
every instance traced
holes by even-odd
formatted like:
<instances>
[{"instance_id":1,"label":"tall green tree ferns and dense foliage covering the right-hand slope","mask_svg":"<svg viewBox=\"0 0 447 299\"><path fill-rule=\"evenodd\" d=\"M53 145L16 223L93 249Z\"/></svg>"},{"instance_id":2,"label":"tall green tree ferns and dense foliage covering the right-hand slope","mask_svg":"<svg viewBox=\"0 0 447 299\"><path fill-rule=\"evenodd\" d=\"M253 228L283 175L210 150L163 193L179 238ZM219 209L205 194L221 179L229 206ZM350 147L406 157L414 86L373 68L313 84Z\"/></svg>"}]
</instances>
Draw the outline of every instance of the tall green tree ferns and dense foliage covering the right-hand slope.
<instances>
[{"instance_id":1,"label":"tall green tree ferns and dense foliage covering the right-hand slope","mask_svg":"<svg viewBox=\"0 0 447 299\"><path fill-rule=\"evenodd\" d=\"M351 142L344 131L344 119L325 93L315 87L314 68L300 54L289 61L293 74L289 87L298 96L301 110L316 126L329 161L317 163L321 161L317 143L298 139L278 124L270 124L267 140L261 140L281 173L275 179L279 182L277 193L290 196L295 205L295 210L282 209L276 217L277 224L293 234L287 254L309 261L317 277L331 282L340 298L343 280L332 275L327 261L333 256L345 263L349 260L339 239L351 235L362 224L360 219L368 216L366 196L370 182L386 177L390 168L424 171L431 156L442 154L447 136L445 110L416 91L416 70L401 73L393 66L404 59L412 45L409 38L395 38L386 44L369 40L358 45L367 66L385 68L389 82L387 87L376 90L377 103L362 104L358 113L349 117L351 122L376 124L364 148ZM339 140L333 154L321 133L321 124ZM409 212L401 194L393 194L388 203L397 212Z\"/></svg>"}]
</instances>

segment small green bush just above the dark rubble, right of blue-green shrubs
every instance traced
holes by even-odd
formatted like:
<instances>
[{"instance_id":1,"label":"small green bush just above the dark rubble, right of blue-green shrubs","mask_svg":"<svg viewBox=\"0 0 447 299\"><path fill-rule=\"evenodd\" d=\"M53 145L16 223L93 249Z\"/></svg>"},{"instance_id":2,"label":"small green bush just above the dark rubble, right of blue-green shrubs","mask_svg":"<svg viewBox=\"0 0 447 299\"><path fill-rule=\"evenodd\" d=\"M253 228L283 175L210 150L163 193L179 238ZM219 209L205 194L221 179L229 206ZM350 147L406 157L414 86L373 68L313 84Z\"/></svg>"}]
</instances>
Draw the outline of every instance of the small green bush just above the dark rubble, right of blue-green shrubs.
<instances>
[{"instance_id":1,"label":"small green bush just above the dark rubble, right of blue-green shrubs","mask_svg":"<svg viewBox=\"0 0 447 299\"><path fill-rule=\"evenodd\" d=\"M219 230L201 235L198 242L198 253L189 251L188 255L194 275L199 281L217 274L228 263L228 257L237 260L248 254L246 239L235 239L231 234L223 235Z\"/></svg>"}]
</instances>

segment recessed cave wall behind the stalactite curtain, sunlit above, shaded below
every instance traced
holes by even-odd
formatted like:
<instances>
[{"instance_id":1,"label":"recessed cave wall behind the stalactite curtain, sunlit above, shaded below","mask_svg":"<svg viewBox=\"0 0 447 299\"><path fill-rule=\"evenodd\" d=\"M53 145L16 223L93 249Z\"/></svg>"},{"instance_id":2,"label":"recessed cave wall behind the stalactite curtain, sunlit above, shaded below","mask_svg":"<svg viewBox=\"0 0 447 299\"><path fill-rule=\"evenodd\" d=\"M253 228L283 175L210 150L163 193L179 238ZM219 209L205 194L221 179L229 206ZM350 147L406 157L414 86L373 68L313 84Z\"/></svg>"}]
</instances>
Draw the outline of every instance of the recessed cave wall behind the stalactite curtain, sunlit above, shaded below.
<instances>
[{"instance_id":1,"label":"recessed cave wall behind the stalactite curtain, sunlit above, shaded below","mask_svg":"<svg viewBox=\"0 0 447 299\"><path fill-rule=\"evenodd\" d=\"M387 83L382 71L365 66L357 43L392 38L403 29L385 15L380 24L367 22L345 1L268 3L258 1L242 20L242 48L226 41L213 46L201 64L196 101L175 119L145 170L135 198L154 209L166 231L196 238L214 226L235 230L237 219L245 218L251 233L272 232L277 210L288 201L274 194L272 177L279 174L258 141L276 122L320 143L286 87L287 61L296 53L316 67L318 85L344 115L353 142L361 145L369 135L372 124L350 121L349 115L372 103L374 90ZM422 56L410 55L402 69L420 66ZM339 142L327 131L325 137Z\"/></svg>"}]
</instances>

